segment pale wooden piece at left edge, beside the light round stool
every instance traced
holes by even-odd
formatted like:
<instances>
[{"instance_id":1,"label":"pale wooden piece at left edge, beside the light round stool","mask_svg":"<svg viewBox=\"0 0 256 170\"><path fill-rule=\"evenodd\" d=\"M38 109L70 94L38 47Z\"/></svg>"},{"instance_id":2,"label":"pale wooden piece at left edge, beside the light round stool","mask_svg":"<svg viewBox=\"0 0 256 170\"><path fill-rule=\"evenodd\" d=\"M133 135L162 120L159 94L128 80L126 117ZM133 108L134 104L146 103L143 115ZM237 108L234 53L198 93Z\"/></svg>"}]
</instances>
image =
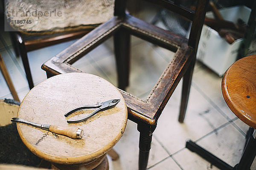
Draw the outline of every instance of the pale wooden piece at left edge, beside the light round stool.
<instances>
[{"instance_id":1,"label":"pale wooden piece at left edge, beside the light round stool","mask_svg":"<svg viewBox=\"0 0 256 170\"><path fill-rule=\"evenodd\" d=\"M6 103L3 99L0 99L0 126L6 126L12 123L10 120L17 116L18 108L18 105Z\"/></svg>"}]
</instances>

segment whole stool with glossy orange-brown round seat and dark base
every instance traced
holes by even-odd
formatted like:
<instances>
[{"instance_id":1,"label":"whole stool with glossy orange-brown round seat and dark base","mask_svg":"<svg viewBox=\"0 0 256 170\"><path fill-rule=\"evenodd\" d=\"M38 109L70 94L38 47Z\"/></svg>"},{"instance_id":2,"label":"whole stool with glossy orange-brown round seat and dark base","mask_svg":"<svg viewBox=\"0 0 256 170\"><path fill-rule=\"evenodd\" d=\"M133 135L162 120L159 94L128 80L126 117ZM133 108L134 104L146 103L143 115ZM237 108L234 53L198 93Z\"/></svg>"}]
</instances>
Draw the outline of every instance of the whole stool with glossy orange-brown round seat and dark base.
<instances>
[{"instance_id":1,"label":"whole stool with glossy orange-brown round seat and dark base","mask_svg":"<svg viewBox=\"0 0 256 170\"><path fill-rule=\"evenodd\" d=\"M221 90L230 110L250 126L239 163L231 167L190 140L186 142L186 147L221 170L250 170L256 156L256 55L233 63L222 78Z\"/></svg>"}]
</instances>

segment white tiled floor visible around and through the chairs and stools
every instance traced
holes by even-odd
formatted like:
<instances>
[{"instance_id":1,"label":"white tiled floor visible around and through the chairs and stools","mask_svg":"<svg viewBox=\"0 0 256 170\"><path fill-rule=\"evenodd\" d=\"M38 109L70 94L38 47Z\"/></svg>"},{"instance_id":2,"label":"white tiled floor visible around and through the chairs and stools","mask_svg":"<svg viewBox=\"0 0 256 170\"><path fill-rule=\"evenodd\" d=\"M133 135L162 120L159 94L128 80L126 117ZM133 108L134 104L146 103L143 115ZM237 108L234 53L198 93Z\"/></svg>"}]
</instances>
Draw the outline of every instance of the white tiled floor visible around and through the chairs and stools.
<instances>
[{"instance_id":1,"label":"white tiled floor visible around and through the chairs and stools","mask_svg":"<svg viewBox=\"0 0 256 170\"><path fill-rule=\"evenodd\" d=\"M150 18L152 17L150 14L144 16ZM41 65L72 42L74 41L28 53L35 84L46 79ZM112 44L112 39L107 40L73 65L82 71L103 77L116 85L117 76ZM21 59L15 57L9 35L6 32L0 34L0 53L7 65L18 96L22 100L29 88ZM131 56L130 86L127 91L145 99L165 66L172 59L173 53L132 37ZM0 87L1 99L12 98L2 74L0 75ZM218 169L186 149L186 139L192 139L234 166L243 151L248 126L237 119L224 102L221 94L221 78L200 62L196 63L184 123L177 121L180 94L181 83L163 110L157 129L153 134L148 169ZM112 161L111 169L138 169L138 141L137 126L134 122L128 121L124 135L114 147L119 153L120 159Z\"/></svg>"}]
</instances>

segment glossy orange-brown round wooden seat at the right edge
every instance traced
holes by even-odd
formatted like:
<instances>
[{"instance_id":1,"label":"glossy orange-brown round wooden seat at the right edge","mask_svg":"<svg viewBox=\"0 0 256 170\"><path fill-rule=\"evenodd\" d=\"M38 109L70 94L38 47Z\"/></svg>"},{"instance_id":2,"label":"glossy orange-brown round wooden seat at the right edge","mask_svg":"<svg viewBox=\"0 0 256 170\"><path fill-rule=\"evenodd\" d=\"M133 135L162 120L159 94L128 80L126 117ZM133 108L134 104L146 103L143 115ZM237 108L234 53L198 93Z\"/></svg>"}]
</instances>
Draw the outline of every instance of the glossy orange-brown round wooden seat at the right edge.
<instances>
[{"instance_id":1,"label":"glossy orange-brown round wooden seat at the right edge","mask_svg":"<svg viewBox=\"0 0 256 170\"><path fill-rule=\"evenodd\" d=\"M256 129L256 55L233 63L222 78L221 90L231 111Z\"/></svg>"}]
</instances>

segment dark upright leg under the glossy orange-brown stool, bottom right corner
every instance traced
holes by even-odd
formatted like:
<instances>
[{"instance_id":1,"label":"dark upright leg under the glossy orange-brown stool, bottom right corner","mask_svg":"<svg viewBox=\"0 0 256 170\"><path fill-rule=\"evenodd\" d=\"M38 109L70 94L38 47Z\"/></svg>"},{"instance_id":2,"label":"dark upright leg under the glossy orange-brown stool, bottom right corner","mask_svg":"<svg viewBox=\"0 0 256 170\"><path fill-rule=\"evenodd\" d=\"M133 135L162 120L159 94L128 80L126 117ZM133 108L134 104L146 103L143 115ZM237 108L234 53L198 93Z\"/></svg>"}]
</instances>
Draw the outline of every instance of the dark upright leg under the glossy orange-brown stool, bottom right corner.
<instances>
[{"instance_id":1,"label":"dark upright leg under the glossy orange-brown stool, bottom right corner","mask_svg":"<svg viewBox=\"0 0 256 170\"><path fill-rule=\"evenodd\" d=\"M249 140L245 146L243 155L239 164L236 165L236 170L250 170L250 166L256 156L256 130L254 129L253 135L249 136Z\"/></svg>"}]
</instances>

